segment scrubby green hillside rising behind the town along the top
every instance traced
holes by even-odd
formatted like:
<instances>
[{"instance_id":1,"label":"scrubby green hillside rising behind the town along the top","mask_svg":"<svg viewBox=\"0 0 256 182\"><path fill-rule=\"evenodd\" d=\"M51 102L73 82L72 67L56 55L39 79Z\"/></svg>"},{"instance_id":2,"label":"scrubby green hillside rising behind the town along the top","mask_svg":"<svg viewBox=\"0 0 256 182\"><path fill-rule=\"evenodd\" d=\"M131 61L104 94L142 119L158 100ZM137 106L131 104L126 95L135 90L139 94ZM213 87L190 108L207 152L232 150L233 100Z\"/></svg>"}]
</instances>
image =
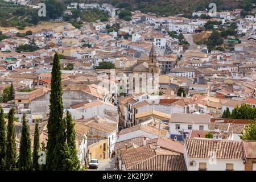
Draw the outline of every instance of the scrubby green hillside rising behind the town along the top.
<instances>
[{"instance_id":1,"label":"scrubby green hillside rising behind the town along the top","mask_svg":"<svg viewBox=\"0 0 256 182\"><path fill-rule=\"evenodd\" d=\"M118 8L141 10L144 13L155 13L156 15L176 15L180 13L191 14L192 11L208 8L209 3L212 2L216 3L217 10L232 10L238 7L239 2L243 3L243 1L240 0L81 0L81 2L111 3Z\"/></svg>"}]
</instances>

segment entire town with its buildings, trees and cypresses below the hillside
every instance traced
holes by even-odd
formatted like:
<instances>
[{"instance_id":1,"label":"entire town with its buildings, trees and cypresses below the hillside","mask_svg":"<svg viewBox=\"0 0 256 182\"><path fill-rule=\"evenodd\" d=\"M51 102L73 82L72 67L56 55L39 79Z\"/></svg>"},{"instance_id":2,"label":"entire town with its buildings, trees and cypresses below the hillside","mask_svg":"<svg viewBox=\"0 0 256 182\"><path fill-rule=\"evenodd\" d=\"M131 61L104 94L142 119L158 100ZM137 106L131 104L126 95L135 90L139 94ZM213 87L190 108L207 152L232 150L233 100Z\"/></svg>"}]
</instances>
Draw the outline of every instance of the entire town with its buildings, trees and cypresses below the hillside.
<instances>
[{"instance_id":1,"label":"entire town with its buildings, trees and cypresses below the hillside","mask_svg":"<svg viewBox=\"0 0 256 182\"><path fill-rule=\"evenodd\" d=\"M0 18L0 170L256 171L255 3L62 6Z\"/></svg>"}]
</instances>

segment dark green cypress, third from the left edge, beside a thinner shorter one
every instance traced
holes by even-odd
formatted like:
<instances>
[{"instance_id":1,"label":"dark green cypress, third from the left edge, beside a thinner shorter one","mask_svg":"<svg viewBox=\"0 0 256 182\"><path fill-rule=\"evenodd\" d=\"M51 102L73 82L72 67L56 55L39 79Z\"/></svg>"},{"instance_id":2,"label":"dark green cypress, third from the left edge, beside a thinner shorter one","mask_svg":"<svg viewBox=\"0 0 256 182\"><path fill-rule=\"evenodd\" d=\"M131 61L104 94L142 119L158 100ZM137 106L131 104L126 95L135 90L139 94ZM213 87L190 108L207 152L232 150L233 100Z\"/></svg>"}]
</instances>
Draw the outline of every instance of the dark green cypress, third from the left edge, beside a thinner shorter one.
<instances>
[{"instance_id":1,"label":"dark green cypress, third from the left edge, beside a thinner shorter one","mask_svg":"<svg viewBox=\"0 0 256 182\"><path fill-rule=\"evenodd\" d=\"M22 135L19 147L19 170L29 171L32 167L31 139L28 129L26 114L22 117Z\"/></svg>"}]
</instances>

